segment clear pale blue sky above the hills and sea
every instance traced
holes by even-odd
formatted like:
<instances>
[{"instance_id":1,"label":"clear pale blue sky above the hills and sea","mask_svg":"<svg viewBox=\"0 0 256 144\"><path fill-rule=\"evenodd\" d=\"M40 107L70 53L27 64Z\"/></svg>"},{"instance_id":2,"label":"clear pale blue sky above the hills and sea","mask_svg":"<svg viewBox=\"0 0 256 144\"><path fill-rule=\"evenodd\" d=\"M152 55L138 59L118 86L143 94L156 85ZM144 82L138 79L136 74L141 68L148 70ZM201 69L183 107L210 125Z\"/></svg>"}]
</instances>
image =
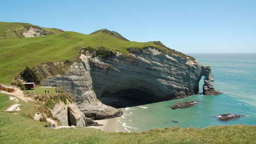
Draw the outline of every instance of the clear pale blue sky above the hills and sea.
<instances>
[{"instance_id":1,"label":"clear pale blue sky above the hills and sea","mask_svg":"<svg viewBox=\"0 0 256 144\"><path fill-rule=\"evenodd\" d=\"M107 28L184 53L256 53L256 0L1 0L0 21L84 34Z\"/></svg>"}]
</instances>

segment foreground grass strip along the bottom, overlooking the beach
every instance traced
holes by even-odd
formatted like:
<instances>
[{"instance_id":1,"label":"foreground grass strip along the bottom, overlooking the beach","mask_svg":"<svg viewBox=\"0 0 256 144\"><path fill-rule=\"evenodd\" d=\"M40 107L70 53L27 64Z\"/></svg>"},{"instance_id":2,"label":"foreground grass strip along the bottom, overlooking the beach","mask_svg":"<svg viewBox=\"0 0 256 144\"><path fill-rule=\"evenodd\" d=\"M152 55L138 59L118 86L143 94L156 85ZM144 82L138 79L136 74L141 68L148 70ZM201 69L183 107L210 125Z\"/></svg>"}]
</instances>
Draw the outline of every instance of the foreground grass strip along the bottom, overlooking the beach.
<instances>
[{"instance_id":1,"label":"foreground grass strip along the bottom, overlooking the beach","mask_svg":"<svg viewBox=\"0 0 256 144\"><path fill-rule=\"evenodd\" d=\"M142 133L111 133L93 128L49 129L30 118L34 104L22 102L21 111L3 112L13 102L0 94L0 144L124 144L124 143L255 143L256 126L234 125L199 128L154 129ZM28 115L26 115L28 113Z\"/></svg>"}]
</instances>

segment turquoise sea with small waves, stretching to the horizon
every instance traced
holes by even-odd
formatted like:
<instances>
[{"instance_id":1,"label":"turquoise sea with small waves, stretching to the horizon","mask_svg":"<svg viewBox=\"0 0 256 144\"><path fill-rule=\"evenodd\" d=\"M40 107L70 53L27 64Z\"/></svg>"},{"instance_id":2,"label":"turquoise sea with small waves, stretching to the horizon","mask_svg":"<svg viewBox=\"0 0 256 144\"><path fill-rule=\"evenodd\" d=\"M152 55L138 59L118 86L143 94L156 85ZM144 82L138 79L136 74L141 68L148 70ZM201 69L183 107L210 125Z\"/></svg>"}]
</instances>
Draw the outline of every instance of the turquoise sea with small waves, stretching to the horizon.
<instances>
[{"instance_id":1,"label":"turquoise sea with small waves, stretching to the horizon","mask_svg":"<svg viewBox=\"0 0 256 144\"><path fill-rule=\"evenodd\" d=\"M201 94L178 100L168 100L123 109L117 122L124 131L142 132L152 128L178 126L200 127L233 124L256 124L256 54L189 54L205 66L211 66L214 87L224 94ZM200 81L202 92L203 78ZM196 107L172 110L177 102L196 100ZM215 115L232 113L244 115L233 121L219 121ZM172 120L178 121L173 123Z\"/></svg>"}]
</instances>

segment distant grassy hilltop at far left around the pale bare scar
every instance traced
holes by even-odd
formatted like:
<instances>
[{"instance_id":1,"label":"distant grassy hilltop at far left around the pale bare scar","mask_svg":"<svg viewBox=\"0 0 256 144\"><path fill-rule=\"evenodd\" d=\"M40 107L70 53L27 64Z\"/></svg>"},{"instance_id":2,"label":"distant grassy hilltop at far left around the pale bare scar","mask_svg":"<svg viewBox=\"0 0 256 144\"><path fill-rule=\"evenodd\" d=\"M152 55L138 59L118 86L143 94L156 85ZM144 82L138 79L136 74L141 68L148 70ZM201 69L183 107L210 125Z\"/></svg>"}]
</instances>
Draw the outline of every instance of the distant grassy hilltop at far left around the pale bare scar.
<instances>
[{"instance_id":1,"label":"distant grassy hilltop at far left around the pale bare scar","mask_svg":"<svg viewBox=\"0 0 256 144\"><path fill-rule=\"evenodd\" d=\"M20 33L22 33L23 31L26 31L27 29L23 28L24 26L36 26L36 25L32 25L30 23L18 23L18 22L0 22L0 37L5 36L3 39L9 39L9 38L19 38ZM40 26L36 26L39 28L43 28ZM23 28L23 29L20 29ZM16 30L17 29L17 30ZM55 34L59 33L59 30L56 28L43 28L48 32L53 32ZM14 32L16 30L17 34ZM7 33L9 36L7 36ZM12 35L10 35L12 34Z\"/></svg>"}]
</instances>

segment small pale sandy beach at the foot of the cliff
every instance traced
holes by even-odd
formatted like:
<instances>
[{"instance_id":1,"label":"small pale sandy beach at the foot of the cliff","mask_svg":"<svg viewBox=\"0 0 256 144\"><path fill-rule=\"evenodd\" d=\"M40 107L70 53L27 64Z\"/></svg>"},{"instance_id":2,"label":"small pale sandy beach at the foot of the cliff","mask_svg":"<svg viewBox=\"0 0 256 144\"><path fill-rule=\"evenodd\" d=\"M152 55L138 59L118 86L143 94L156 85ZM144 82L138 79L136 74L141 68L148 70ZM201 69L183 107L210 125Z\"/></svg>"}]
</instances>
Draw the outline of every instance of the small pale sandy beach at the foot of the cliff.
<instances>
[{"instance_id":1,"label":"small pale sandy beach at the foot of the cliff","mask_svg":"<svg viewBox=\"0 0 256 144\"><path fill-rule=\"evenodd\" d=\"M119 108L119 110L124 112L125 108ZM89 126L89 127L100 129L105 132L128 132L122 126L123 124L120 123L120 119L122 119L121 116L110 118L110 119L95 120L95 122L98 122L99 124L103 124L103 126Z\"/></svg>"}]
</instances>

